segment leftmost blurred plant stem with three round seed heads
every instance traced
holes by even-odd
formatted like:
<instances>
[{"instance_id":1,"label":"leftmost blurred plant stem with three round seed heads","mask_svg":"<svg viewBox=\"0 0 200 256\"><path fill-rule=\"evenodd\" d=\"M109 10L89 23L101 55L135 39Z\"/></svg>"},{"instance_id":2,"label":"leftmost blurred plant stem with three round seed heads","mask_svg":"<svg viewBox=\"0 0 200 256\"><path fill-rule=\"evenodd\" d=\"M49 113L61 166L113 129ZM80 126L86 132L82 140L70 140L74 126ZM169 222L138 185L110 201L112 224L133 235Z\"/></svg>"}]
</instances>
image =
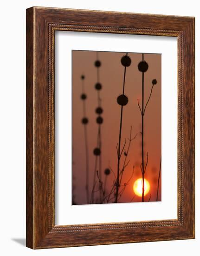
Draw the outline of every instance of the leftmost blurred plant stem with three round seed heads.
<instances>
[{"instance_id":1,"label":"leftmost blurred plant stem with three round seed heads","mask_svg":"<svg viewBox=\"0 0 200 256\"><path fill-rule=\"evenodd\" d=\"M87 124L88 124L88 118L86 117L86 99L87 95L85 94L84 89L84 80L85 76L81 75L81 81L82 81L82 94L81 94L81 100L83 101L83 115L81 122L84 125L84 141L85 141L85 190L86 190L86 199L87 203L90 201L90 195L89 195L89 150L88 150L88 135L87 135Z\"/></svg>"}]
</instances>

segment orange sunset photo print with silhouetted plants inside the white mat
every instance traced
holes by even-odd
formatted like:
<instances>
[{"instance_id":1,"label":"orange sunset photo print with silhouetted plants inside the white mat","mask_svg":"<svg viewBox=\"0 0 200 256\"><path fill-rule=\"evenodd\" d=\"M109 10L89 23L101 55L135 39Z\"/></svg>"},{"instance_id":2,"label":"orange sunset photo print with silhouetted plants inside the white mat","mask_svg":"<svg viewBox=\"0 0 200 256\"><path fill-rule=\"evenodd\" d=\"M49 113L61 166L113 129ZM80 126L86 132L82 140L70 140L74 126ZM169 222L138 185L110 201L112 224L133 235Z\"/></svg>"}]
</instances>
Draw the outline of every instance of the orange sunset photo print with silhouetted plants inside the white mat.
<instances>
[{"instance_id":1,"label":"orange sunset photo print with silhouetted plants inside the white mat","mask_svg":"<svg viewBox=\"0 0 200 256\"><path fill-rule=\"evenodd\" d=\"M72 205L156 201L161 54L73 50Z\"/></svg>"}]
</instances>

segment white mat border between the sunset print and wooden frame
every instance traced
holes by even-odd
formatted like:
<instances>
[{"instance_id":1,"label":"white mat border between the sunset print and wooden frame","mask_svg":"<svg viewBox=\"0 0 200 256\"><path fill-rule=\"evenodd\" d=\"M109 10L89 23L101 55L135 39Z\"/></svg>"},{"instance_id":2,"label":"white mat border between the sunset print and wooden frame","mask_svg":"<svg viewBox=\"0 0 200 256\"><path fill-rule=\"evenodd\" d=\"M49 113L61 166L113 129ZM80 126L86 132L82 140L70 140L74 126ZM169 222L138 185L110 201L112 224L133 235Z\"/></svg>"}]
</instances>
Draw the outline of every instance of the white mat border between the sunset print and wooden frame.
<instances>
[{"instance_id":1,"label":"white mat border between the sunset print and wooden frame","mask_svg":"<svg viewBox=\"0 0 200 256\"><path fill-rule=\"evenodd\" d=\"M71 50L162 54L162 201L71 205ZM177 39L55 32L55 224L177 218ZM66 109L68 112L66 113ZM67 152L67 153L66 153Z\"/></svg>"}]
</instances>

